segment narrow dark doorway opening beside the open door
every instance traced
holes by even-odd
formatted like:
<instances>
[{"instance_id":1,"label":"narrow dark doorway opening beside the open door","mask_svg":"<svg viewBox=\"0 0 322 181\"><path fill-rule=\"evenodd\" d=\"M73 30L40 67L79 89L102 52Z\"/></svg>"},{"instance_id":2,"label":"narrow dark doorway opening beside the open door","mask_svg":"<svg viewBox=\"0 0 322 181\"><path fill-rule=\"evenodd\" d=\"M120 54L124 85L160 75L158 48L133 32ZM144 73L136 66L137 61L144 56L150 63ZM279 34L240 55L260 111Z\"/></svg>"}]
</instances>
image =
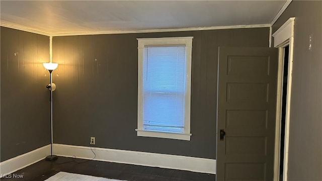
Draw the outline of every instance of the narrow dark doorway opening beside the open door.
<instances>
[{"instance_id":1,"label":"narrow dark doorway opening beside the open door","mask_svg":"<svg viewBox=\"0 0 322 181\"><path fill-rule=\"evenodd\" d=\"M286 101L287 101L287 80L288 80L288 54L289 46L284 47L284 65L283 65L283 92L281 105L281 133L280 133L280 167L279 180L283 180L284 171L284 140L285 140L285 119L286 119Z\"/></svg>"}]
</instances>

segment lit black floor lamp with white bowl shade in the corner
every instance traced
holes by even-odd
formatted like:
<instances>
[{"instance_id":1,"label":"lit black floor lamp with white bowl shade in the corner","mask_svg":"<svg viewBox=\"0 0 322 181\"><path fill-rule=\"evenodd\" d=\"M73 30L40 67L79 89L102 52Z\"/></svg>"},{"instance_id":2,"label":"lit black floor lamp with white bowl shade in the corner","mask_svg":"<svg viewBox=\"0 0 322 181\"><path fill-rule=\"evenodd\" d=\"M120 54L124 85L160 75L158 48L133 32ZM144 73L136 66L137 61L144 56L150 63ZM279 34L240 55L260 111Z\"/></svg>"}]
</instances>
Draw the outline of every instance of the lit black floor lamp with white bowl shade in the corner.
<instances>
[{"instance_id":1,"label":"lit black floor lamp with white bowl shade in the corner","mask_svg":"<svg viewBox=\"0 0 322 181\"><path fill-rule=\"evenodd\" d=\"M52 76L51 76L51 72L57 68L58 63L43 63L44 67L49 71L50 74L50 83L46 86L49 91L50 91L50 155L48 155L45 160L47 161L53 161L57 159L56 155L52 154L52 143L53 143L53 135L52 135L52 92L55 91L56 89L56 85L52 82Z\"/></svg>"}]
</instances>

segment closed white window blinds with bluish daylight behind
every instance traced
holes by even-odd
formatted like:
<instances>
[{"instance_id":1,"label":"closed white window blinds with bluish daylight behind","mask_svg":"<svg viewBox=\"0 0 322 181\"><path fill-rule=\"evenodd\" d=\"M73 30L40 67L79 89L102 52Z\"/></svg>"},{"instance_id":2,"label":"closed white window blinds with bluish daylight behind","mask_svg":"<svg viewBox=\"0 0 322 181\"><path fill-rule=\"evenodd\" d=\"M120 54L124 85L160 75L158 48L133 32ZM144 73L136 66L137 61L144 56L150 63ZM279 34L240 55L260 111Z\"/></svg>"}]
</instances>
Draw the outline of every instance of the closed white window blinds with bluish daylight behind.
<instances>
[{"instance_id":1,"label":"closed white window blinds with bluish daylight behind","mask_svg":"<svg viewBox=\"0 0 322 181\"><path fill-rule=\"evenodd\" d=\"M144 130L184 132L185 63L185 45L144 47Z\"/></svg>"}]
</instances>

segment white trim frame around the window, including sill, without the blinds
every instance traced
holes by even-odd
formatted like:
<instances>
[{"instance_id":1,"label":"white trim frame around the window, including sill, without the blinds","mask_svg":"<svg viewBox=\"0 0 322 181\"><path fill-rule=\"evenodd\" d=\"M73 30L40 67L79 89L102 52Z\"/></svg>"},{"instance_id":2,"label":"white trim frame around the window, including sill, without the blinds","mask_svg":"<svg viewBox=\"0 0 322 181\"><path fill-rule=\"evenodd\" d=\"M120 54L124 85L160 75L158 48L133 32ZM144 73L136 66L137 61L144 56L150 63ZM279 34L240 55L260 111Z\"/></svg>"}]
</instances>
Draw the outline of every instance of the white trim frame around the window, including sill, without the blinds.
<instances>
[{"instance_id":1,"label":"white trim frame around the window, including sill, without the blinds","mask_svg":"<svg viewBox=\"0 0 322 181\"><path fill-rule=\"evenodd\" d=\"M190 141L190 110L191 110L191 59L192 59L192 39L193 37L166 37L166 38L137 38L138 43L138 74L137 74L137 136L170 138ZM146 45L178 45L186 46L186 82L185 82L185 115L184 115L184 132L160 132L152 130L143 130L143 57L144 46Z\"/></svg>"}]
</instances>

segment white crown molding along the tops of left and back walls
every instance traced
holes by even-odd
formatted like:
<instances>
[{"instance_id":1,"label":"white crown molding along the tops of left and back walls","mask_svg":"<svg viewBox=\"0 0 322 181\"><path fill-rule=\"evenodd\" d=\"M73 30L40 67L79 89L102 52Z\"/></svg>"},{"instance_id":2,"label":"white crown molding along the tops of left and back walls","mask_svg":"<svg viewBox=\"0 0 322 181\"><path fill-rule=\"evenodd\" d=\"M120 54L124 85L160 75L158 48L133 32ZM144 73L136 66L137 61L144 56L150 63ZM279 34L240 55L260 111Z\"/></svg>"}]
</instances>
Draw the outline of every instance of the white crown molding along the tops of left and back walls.
<instances>
[{"instance_id":1,"label":"white crown molding along the tops of left and back walls","mask_svg":"<svg viewBox=\"0 0 322 181\"><path fill-rule=\"evenodd\" d=\"M179 31L201 31L201 30L221 30L221 29L238 29L238 28L268 28L271 24L257 25L234 25L234 26L213 26L198 28L176 28L176 29L152 29L152 30L125 30L125 31L93 31L93 32L70 32L70 33L47 33L39 30L26 28L21 25L10 22L0 22L0 26L22 30L26 32L36 33L46 36L75 36L75 35L101 35L101 34L126 34L126 33L155 33L155 32L179 32Z\"/></svg>"}]
</instances>

